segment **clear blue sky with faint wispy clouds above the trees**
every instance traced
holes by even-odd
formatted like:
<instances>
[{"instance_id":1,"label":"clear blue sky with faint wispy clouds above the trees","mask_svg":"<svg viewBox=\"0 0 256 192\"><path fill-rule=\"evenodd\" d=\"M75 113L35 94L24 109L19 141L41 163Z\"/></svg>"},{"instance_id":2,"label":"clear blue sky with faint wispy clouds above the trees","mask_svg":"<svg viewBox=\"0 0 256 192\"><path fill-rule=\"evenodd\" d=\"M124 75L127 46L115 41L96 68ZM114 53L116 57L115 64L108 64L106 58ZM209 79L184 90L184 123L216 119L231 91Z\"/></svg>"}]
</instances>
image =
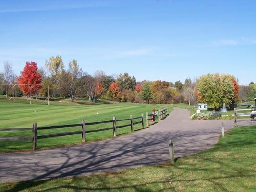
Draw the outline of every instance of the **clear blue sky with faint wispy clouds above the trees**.
<instances>
[{"instance_id":1,"label":"clear blue sky with faint wispy clouds above the trees","mask_svg":"<svg viewBox=\"0 0 256 192\"><path fill-rule=\"evenodd\" d=\"M256 81L256 0L0 0L0 71L61 55L88 73Z\"/></svg>"}]
</instances>

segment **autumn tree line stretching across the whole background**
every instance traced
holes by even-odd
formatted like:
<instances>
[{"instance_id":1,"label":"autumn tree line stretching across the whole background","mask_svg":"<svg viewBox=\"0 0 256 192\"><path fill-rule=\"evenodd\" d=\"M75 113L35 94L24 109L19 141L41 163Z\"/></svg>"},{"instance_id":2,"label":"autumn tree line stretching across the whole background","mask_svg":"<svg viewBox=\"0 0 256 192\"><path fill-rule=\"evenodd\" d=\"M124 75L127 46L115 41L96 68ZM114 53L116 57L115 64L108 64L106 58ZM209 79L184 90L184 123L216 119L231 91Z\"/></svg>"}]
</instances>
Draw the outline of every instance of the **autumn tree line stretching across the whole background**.
<instances>
[{"instance_id":1,"label":"autumn tree line stretching across the whole background","mask_svg":"<svg viewBox=\"0 0 256 192\"><path fill-rule=\"evenodd\" d=\"M12 71L9 62L4 63L0 74L0 82L4 84L39 84L33 86L34 96L48 96L48 88L40 84L49 84L51 98L65 97L72 101L76 98L87 98L97 102L106 99L135 103L208 103L210 108L218 110L223 103L234 106L240 100L252 100L256 97L256 84L239 86L238 80L228 74L208 74L195 78L187 78L184 83L176 81L136 81L128 73L119 76L107 75L97 70L93 75L84 72L72 60L65 68L61 56L50 57L45 66L37 68L37 63L26 62L19 76ZM30 86L20 85L15 89L15 96L30 94ZM1 94L10 94L10 87L1 86Z\"/></svg>"}]
</instances>

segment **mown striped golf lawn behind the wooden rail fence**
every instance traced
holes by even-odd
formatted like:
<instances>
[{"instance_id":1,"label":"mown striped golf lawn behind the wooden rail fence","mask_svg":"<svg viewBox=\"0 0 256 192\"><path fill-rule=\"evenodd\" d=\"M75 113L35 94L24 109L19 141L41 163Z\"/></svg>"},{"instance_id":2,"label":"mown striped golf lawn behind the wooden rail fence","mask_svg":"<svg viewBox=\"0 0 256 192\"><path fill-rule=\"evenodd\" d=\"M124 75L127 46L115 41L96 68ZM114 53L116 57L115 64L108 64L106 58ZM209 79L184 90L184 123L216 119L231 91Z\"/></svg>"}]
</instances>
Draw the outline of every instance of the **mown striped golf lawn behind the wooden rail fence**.
<instances>
[{"instance_id":1,"label":"mown striped golf lawn behind the wooden rail fence","mask_svg":"<svg viewBox=\"0 0 256 192\"><path fill-rule=\"evenodd\" d=\"M15 102L10 103L7 99L0 99L0 128L32 128L33 123L37 127L65 125L81 123L83 119L86 122L113 120L115 116L118 119L128 119L130 115L139 117L146 112L152 113L153 108L186 108L185 104L177 105L148 105L134 103L120 103L110 101L99 101L89 104L85 100L70 102L69 100L52 101L51 105L46 105L45 101L33 100L32 104L24 98L16 98ZM141 119L134 120L138 122ZM146 121L145 121L146 122ZM117 122L117 126L130 124L130 120ZM146 123L145 123L146 126ZM86 126L86 130L113 127L113 123ZM134 125L134 130L141 129L142 125ZM60 128L52 130L38 130L37 135L53 134L60 132L81 131L81 127ZM130 127L117 129L117 135L131 132ZM0 131L0 137L31 137L32 131ZM113 137L113 130L94 132L86 134L86 141L95 141ZM62 137L52 137L37 140L37 148L48 148L56 146L68 146L81 143L81 134ZM32 141L8 141L0 142L0 152L32 150Z\"/></svg>"}]
</instances>

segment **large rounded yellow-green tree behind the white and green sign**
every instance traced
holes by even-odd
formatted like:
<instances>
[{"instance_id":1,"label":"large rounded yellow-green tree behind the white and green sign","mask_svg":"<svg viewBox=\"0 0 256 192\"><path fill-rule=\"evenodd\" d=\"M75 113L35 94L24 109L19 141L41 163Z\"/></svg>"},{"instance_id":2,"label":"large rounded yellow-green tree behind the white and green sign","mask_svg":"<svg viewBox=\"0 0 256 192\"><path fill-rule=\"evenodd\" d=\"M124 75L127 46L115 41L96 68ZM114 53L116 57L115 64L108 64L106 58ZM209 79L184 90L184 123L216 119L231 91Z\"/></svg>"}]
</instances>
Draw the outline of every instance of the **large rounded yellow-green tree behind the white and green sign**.
<instances>
[{"instance_id":1,"label":"large rounded yellow-green tree behind the white and green sign","mask_svg":"<svg viewBox=\"0 0 256 192\"><path fill-rule=\"evenodd\" d=\"M234 87L228 75L202 75L197 83L197 99L208 103L210 108L219 109L223 103L228 107L235 97Z\"/></svg>"}]
</instances>

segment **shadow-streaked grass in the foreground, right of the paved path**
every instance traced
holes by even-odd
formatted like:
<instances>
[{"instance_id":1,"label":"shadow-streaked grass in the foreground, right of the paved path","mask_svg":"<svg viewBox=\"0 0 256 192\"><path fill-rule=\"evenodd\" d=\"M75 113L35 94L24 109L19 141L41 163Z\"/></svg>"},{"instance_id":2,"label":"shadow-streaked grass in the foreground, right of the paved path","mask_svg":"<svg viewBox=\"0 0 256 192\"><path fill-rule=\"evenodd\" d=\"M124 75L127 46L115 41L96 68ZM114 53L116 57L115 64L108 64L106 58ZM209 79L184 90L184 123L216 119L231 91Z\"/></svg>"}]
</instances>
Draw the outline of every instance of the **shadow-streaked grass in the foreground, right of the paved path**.
<instances>
[{"instance_id":1,"label":"shadow-streaked grass in the foreground, right of the paved path","mask_svg":"<svg viewBox=\"0 0 256 192\"><path fill-rule=\"evenodd\" d=\"M2 192L255 192L256 126L232 129L213 148L174 165L0 184Z\"/></svg>"}]
</instances>

